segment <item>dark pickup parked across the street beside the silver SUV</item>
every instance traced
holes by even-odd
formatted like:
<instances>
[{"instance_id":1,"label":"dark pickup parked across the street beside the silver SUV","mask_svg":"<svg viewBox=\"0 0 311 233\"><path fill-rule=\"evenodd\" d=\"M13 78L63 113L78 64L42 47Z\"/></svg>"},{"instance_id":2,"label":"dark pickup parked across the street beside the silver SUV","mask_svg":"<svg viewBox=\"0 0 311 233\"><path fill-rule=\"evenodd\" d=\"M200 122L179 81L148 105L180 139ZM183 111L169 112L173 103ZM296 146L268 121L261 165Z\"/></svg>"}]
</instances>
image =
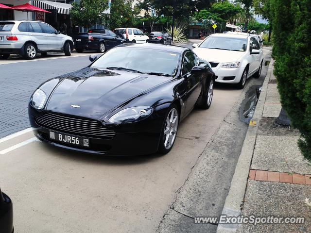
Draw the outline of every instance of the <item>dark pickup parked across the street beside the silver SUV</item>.
<instances>
[{"instance_id":1,"label":"dark pickup parked across the street beside the silver SUV","mask_svg":"<svg viewBox=\"0 0 311 233\"><path fill-rule=\"evenodd\" d=\"M73 35L73 40L77 52L83 52L83 50L104 52L125 42L124 39L107 29L91 29L87 33L77 33Z\"/></svg>"}]
</instances>

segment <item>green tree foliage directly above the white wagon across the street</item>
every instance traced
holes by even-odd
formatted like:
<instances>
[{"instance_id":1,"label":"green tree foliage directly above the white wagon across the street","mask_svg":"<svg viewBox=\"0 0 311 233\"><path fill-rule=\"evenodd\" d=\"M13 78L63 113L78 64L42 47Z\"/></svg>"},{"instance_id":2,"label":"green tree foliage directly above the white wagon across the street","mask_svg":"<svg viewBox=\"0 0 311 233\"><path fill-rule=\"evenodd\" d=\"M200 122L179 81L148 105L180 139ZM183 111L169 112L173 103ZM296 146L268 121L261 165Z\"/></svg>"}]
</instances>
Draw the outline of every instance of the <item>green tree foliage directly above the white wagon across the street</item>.
<instances>
[{"instance_id":1,"label":"green tree foliage directly above the white wagon across the street","mask_svg":"<svg viewBox=\"0 0 311 233\"><path fill-rule=\"evenodd\" d=\"M132 27L136 16L140 12L138 7L132 7L131 0L112 0L109 16L109 28Z\"/></svg>"}]
</instances>

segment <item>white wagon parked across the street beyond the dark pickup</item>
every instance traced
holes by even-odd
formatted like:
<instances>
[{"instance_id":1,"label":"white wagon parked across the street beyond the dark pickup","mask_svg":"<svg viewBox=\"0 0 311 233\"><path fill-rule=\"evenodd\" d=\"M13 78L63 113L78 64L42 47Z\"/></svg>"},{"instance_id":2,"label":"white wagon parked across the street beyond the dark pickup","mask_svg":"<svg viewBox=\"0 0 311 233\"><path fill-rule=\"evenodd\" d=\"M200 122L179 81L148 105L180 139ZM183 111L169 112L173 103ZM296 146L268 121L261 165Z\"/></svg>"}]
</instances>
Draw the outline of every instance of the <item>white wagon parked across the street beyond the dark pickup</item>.
<instances>
[{"instance_id":1,"label":"white wagon parked across the street beyond the dark pickup","mask_svg":"<svg viewBox=\"0 0 311 233\"><path fill-rule=\"evenodd\" d=\"M137 28L116 28L114 33L122 34L123 38L132 43L149 43L150 39Z\"/></svg>"}]
</instances>

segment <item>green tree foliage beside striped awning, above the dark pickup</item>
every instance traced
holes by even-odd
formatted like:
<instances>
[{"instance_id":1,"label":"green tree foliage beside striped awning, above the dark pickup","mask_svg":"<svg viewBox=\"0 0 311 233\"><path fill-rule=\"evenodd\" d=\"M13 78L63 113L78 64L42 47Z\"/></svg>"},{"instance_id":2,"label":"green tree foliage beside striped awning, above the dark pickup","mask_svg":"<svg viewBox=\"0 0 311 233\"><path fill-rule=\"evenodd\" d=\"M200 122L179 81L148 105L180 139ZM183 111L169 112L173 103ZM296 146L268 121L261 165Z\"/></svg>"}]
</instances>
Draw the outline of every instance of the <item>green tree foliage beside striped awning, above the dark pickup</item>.
<instances>
[{"instance_id":1,"label":"green tree foliage beside striped awning, above the dark pickup","mask_svg":"<svg viewBox=\"0 0 311 233\"><path fill-rule=\"evenodd\" d=\"M108 0L80 0L72 3L70 15L72 22L78 26L89 27L103 23L104 10L108 8Z\"/></svg>"}]
</instances>

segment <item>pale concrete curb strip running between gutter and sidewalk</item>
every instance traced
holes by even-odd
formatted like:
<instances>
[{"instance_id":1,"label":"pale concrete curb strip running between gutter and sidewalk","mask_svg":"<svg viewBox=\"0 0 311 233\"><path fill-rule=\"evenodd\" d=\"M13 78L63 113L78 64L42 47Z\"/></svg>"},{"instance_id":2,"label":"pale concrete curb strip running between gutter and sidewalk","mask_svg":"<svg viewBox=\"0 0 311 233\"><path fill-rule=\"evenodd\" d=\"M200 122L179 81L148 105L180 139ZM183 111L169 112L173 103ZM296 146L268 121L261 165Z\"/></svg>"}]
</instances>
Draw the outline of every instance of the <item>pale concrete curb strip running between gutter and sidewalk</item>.
<instances>
[{"instance_id":1,"label":"pale concrete curb strip running between gutter and sidewalk","mask_svg":"<svg viewBox=\"0 0 311 233\"><path fill-rule=\"evenodd\" d=\"M273 71L272 68L273 64L274 60L271 59L267 75L261 87L261 93L259 96L259 100L257 102L254 116L251 119L247 129L241 154L230 184L230 190L225 199L225 205L222 211L222 215L240 216L242 214L241 208L243 205L249 168L251 166L253 151L256 143L257 130L258 130L257 126L259 125L259 121L261 120L262 117L264 102L267 96L268 83ZM218 225L217 233L227 233L227 232L233 233L236 232L237 229L238 224L221 224Z\"/></svg>"}]
</instances>

